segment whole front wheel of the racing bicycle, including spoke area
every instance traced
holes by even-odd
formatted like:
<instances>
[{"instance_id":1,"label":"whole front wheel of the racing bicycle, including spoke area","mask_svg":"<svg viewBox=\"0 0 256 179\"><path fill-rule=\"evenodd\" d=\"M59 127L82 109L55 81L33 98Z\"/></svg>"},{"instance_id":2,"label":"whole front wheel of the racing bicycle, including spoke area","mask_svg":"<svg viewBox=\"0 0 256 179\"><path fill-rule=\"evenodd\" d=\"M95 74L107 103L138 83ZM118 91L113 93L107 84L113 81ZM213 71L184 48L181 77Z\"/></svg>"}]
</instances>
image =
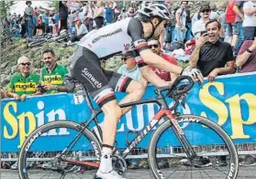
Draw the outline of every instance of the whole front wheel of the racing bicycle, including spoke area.
<instances>
[{"instance_id":1,"label":"whole front wheel of the racing bicycle, including spoke area","mask_svg":"<svg viewBox=\"0 0 256 179\"><path fill-rule=\"evenodd\" d=\"M217 123L195 115L181 115L176 120L196 157L187 156L173 133L173 123L163 122L150 140L149 162L155 178L237 177L238 153L228 134Z\"/></svg>"}]
</instances>

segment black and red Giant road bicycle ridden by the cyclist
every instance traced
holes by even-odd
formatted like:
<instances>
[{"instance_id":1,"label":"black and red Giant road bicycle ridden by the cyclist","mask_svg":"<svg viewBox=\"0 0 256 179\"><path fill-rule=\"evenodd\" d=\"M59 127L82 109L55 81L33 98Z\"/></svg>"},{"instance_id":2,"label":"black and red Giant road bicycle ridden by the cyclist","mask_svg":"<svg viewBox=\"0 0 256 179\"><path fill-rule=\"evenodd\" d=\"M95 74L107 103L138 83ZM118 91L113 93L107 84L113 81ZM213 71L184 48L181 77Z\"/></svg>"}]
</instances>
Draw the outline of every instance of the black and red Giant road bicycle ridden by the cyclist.
<instances>
[{"instance_id":1,"label":"black and red Giant road bicycle ridden by the cyclist","mask_svg":"<svg viewBox=\"0 0 256 179\"><path fill-rule=\"evenodd\" d=\"M75 82L77 82L75 79L70 78L65 84ZM214 121L196 115L183 115L176 110L179 104L184 104L184 94L193 86L194 81L191 78L180 76L172 87L154 89L155 98L120 105L124 108L156 103L160 110L149 124L127 143L127 148L119 149L118 143L115 145L112 160L113 168L118 174L124 174L128 178L125 172L129 153L133 152L150 131L154 131L148 148L148 161L152 171L150 178L234 179L237 177L238 153L227 132ZM101 157L102 132L97 117L102 111L93 107L93 101L84 86L83 98L90 109L91 117L81 123L50 121L29 134L18 159L18 174L21 179L94 178ZM166 100L170 98L173 99L173 103L169 106ZM56 133L59 133L59 136L56 136ZM64 133L70 137L65 138ZM202 139L204 142L200 141ZM46 148L46 143L55 144L58 149L50 146ZM51 163L47 170L29 170L27 167L30 160L29 153L40 151L50 153L53 150L52 156L44 158ZM71 155L77 151L82 154L73 159ZM208 160L207 167L201 163L202 160ZM163 162L167 164L162 165ZM71 166L83 167L83 173L69 173ZM136 174L136 171L134 173Z\"/></svg>"}]
</instances>

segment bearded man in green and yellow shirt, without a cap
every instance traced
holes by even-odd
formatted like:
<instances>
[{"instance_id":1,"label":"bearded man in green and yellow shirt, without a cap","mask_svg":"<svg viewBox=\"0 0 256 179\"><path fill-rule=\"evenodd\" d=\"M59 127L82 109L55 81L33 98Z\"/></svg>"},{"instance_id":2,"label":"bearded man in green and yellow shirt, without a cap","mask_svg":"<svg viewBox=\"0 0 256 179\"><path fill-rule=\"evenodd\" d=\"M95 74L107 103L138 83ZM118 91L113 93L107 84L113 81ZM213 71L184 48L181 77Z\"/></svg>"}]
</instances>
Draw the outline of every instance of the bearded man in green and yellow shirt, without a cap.
<instances>
[{"instance_id":1,"label":"bearded man in green and yellow shirt, without a cap","mask_svg":"<svg viewBox=\"0 0 256 179\"><path fill-rule=\"evenodd\" d=\"M43 51L43 59L45 68L41 70L41 82L43 89L50 93L66 91L63 86L64 76L68 73L68 69L56 63L55 53L52 49Z\"/></svg>"}]
</instances>

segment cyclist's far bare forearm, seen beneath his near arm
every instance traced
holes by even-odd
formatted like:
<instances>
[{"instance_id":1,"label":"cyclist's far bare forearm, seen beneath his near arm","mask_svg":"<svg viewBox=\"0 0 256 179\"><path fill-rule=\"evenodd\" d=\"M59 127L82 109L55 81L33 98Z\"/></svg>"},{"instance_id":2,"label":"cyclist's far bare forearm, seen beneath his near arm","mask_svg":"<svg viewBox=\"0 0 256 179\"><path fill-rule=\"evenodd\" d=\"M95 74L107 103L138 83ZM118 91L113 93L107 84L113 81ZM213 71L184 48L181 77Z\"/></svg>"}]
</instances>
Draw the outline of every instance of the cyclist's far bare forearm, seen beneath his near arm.
<instances>
[{"instance_id":1,"label":"cyclist's far bare forearm, seen beneath his near arm","mask_svg":"<svg viewBox=\"0 0 256 179\"><path fill-rule=\"evenodd\" d=\"M150 83L154 84L156 87L168 86L169 84L161 79L152 69L148 66L144 66L140 69L141 76L145 78Z\"/></svg>"}]
</instances>

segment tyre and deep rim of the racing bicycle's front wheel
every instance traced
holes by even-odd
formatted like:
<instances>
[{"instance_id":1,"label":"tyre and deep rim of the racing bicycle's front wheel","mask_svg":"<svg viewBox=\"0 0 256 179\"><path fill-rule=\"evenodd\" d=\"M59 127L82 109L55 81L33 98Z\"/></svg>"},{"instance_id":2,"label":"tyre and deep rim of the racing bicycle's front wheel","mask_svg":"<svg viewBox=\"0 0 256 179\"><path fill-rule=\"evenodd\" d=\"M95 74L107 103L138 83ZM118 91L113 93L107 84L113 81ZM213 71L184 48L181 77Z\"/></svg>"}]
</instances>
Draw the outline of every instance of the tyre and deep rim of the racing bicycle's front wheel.
<instances>
[{"instance_id":1,"label":"tyre and deep rim of the racing bicycle's front wheel","mask_svg":"<svg viewBox=\"0 0 256 179\"><path fill-rule=\"evenodd\" d=\"M183 119L194 119L194 121L183 121ZM199 123L203 124L206 127L212 129L214 132L217 132L217 135L227 144L228 146L228 152L230 155L230 167L228 171L228 179L235 179L239 172L239 157L236 150L236 147L234 143L231 141L230 137L228 136L228 133L225 132L217 123L214 121L210 121L204 117L196 116L196 115L181 115L176 118L176 120L180 122L189 122L189 123ZM156 152L157 152L157 142L159 142L161 135L163 132L166 132L166 130L170 129L173 126L173 123L171 121L164 121L159 128L152 134L152 137L150 139L150 145L149 145L149 164L150 169L154 175L155 178L161 179L165 178L163 174L161 173L161 169L158 166L158 162L156 159ZM169 176L168 176L169 178ZM170 177L171 178L171 177Z\"/></svg>"}]
</instances>

